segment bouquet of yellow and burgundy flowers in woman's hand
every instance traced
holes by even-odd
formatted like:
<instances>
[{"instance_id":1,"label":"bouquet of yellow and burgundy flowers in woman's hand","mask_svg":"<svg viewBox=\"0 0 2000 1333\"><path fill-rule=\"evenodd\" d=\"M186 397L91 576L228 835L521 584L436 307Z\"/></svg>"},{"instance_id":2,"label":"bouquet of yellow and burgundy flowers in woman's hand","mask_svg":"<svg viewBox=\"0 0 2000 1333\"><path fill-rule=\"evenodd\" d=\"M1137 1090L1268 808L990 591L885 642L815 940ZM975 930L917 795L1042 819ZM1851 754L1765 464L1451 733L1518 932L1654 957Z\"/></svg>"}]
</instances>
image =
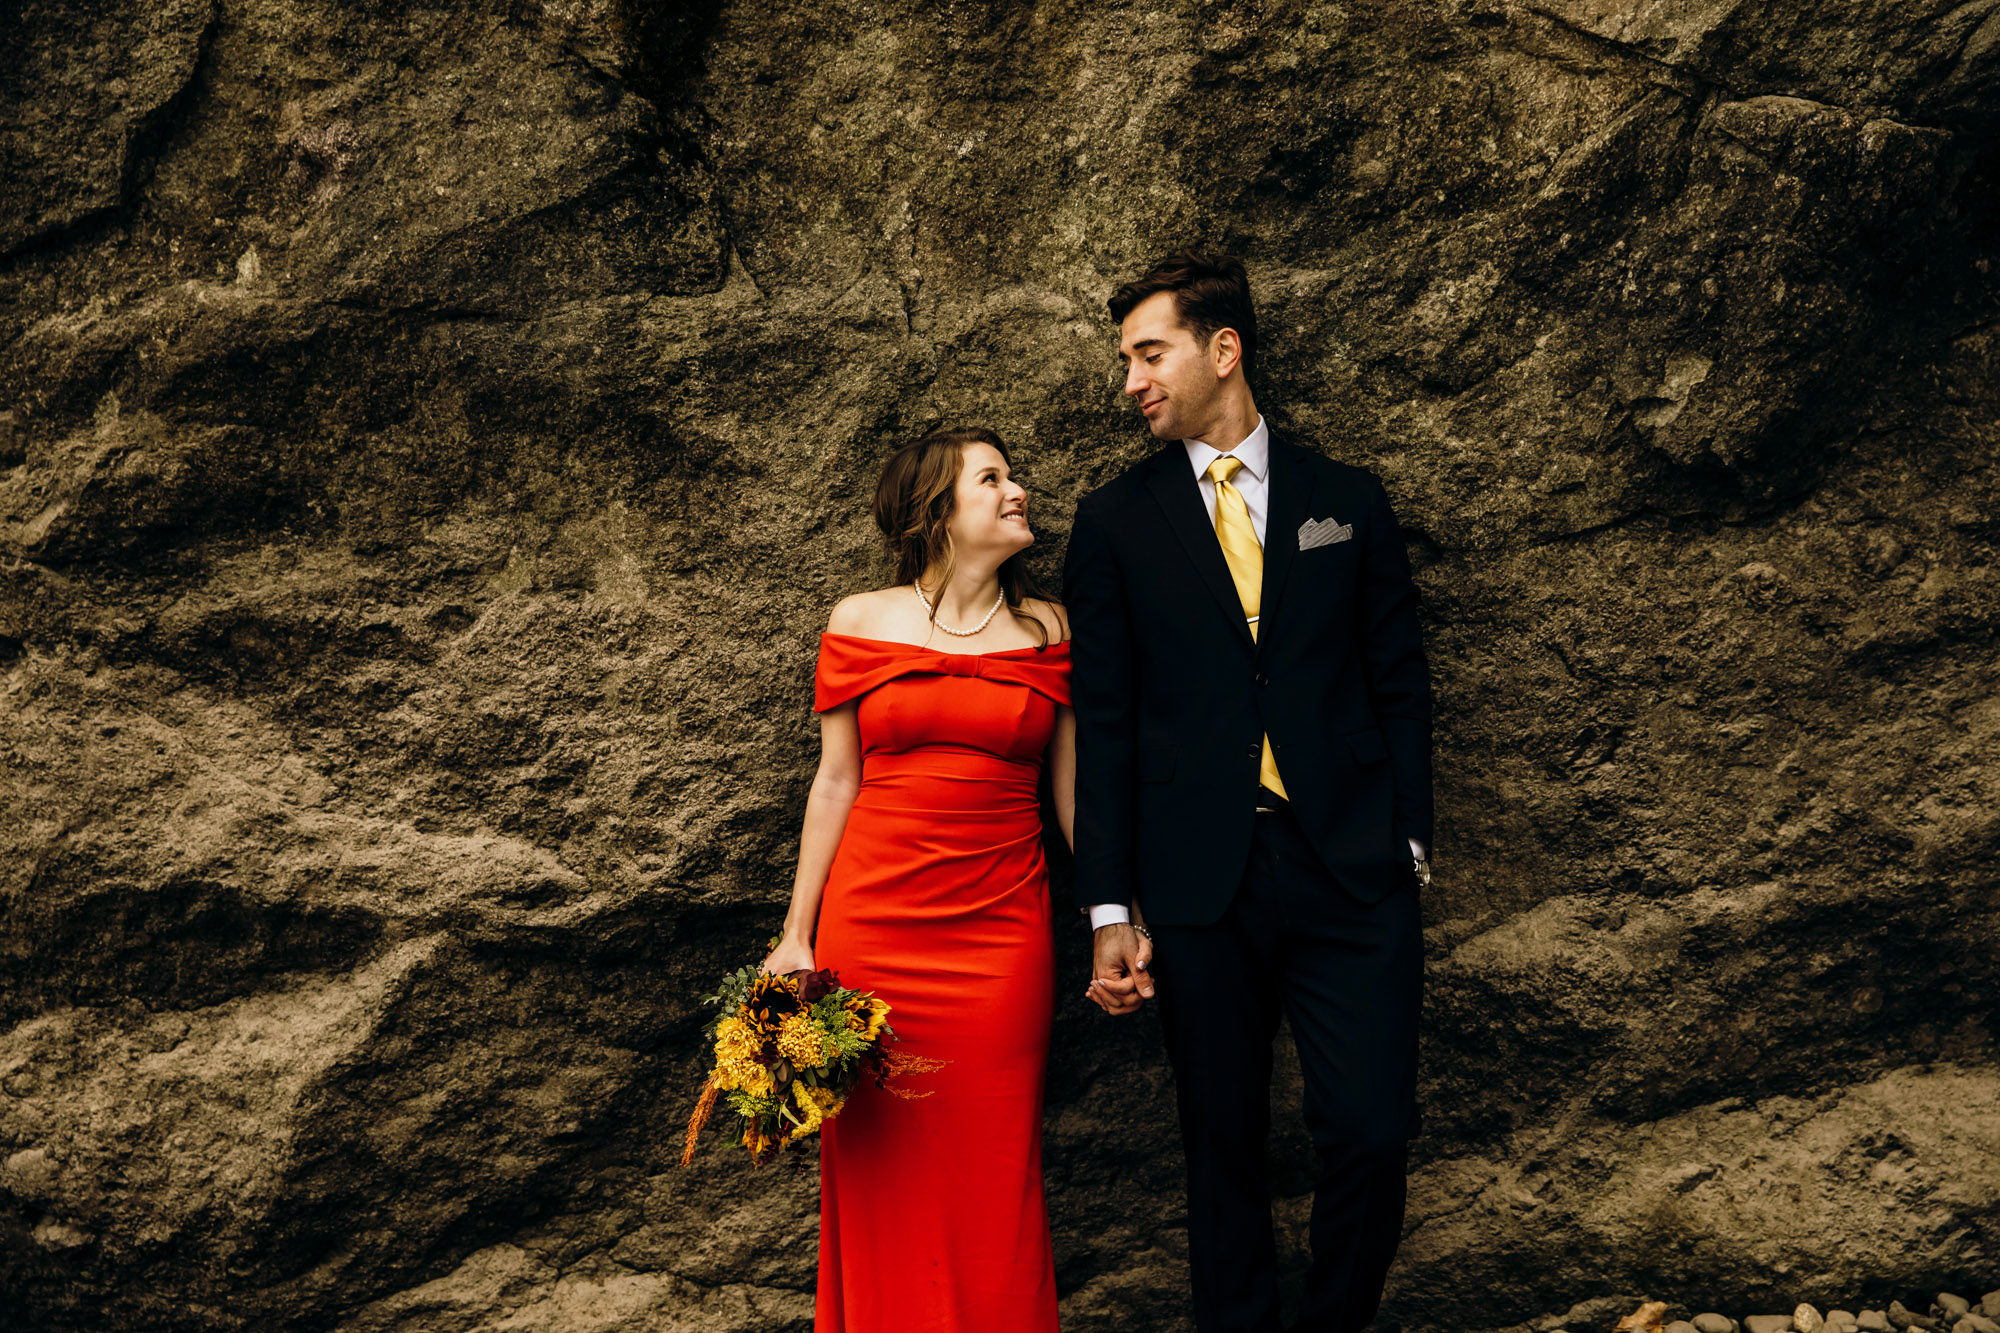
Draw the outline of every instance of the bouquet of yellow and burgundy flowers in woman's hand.
<instances>
[{"instance_id":1,"label":"bouquet of yellow and burgundy flowers in woman's hand","mask_svg":"<svg viewBox=\"0 0 2000 1333\"><path fill-rule=\"evenodd\" d=\"M894 1097L928 1097L888 1087L888 1081L944 1065L890 1051L896 1033L888 1025L888 1005L848 991L832 971L780 977L742 967L702 1001L718 1009L702 1029L714 1043L716 1067L688 1117L682 1167L694 1161L694 1141L716 1101L728 1101L742 1117L742 1145L752 1163L764 1165L820 1133L864 1077L874 1075L876 1087Z\"/></svg>"}]
</instances>

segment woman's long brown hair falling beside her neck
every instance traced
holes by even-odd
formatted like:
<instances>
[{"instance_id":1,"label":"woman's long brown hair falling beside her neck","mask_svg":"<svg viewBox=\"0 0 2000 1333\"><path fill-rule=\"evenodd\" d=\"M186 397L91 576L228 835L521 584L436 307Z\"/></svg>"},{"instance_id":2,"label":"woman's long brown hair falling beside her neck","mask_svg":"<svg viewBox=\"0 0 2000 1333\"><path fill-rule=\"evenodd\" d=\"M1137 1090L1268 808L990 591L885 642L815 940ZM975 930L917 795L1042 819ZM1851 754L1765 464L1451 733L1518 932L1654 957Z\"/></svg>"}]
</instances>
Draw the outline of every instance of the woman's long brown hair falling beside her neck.
<instances>
[{"instance_id":1,"label":"woman's long brown hair falling beside her neck","mask_svg":"<svg viewBox=\"0 0 2000 1333\"><path fill-rule=\"evenodd\" d=\"M956 564L952 534L944 524L958 506L958 472L964 468L968 444L992 444L1000 458L1014 466L1006 444L986 426L946 426L890 454L882 464L882 480L876 482L876 526L888 538L888 552L896 562L894 582L916 582L932 568L940 574L938 596L930 602L932 624L938 622L938 602L944 600L942 592L952 582ZM1044 596L1028 572L1026 554L1016 550L1000 562L1000 592L1006 596L1008 612L1032 624L1036 646L1046 648L1048 626L1024 608L1030 596Z\"/></svg>"}]
</instances>

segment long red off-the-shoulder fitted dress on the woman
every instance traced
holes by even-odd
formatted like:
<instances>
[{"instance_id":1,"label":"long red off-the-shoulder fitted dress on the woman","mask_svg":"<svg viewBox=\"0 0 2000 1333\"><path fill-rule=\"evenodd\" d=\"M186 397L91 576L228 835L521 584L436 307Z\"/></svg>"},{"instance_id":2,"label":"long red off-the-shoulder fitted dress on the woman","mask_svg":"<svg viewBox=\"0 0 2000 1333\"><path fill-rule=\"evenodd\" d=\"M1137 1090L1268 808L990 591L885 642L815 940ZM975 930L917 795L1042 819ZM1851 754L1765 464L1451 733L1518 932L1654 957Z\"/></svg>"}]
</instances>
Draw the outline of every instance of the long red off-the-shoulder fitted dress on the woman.
<instances>
[{"instance_id":1,"label":"long red off-the-shoulder fitted dress on the woman","mask_svg":"<svg viewBox=\"0 0 2000 1333\"><path fill-rule=\"evenodd\" d=\"M938 652L824 634L814 709L860 699L862 785L814 961L890 1005L896 1049L820 1137L816 1333L1054 1333L1042 1079L1054 935L1036 779L1070 646ZM894 1087L894 1085L892 1085Z\"/></svg>"}]
</instances>

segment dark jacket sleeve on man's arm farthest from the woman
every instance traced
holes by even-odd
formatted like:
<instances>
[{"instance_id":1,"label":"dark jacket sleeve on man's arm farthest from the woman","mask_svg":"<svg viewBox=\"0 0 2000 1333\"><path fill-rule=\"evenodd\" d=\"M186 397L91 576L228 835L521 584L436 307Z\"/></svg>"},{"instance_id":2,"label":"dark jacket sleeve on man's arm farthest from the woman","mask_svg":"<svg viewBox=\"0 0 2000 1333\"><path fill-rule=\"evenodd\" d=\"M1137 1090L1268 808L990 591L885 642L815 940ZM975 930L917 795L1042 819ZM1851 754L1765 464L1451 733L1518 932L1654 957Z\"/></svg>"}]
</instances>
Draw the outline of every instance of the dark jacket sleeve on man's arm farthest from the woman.
<instances>
[{"instance_id":1,"label":"dark jacket sleeve on man's arm farthest from the woman","mask_svg":"<svg viewBox=\"0 0 2000 1333\"><path fill-rule=\"evenodd\" d=\"M1396 773L1396 833L1430 847L1430 666L1416 618L1416 582L1388 492L1374 476L1376 512L1362 552L1362 658L1368 695Z\"/></svg>"}]
</instances>

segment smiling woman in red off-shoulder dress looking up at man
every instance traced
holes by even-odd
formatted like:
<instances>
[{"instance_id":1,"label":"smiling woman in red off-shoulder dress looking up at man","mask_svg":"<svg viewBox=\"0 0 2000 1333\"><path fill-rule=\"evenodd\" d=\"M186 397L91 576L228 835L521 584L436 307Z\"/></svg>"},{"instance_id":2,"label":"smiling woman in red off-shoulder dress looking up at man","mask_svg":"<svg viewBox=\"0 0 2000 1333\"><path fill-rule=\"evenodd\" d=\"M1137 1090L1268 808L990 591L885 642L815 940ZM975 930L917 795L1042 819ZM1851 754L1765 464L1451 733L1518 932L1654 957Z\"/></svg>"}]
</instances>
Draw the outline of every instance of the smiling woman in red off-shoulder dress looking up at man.
<instances>
[{"instance_id":1,"label":"smiling woman in red off-shoulder dress looking up at man","mask_svg":"<svg viewBox=\"0 0 2000 1333\"><path fill-rule=\"evenodd\" d=\"M896 1051L820 1137L816 1333L1054 1333L1042 1081L1054 939L1036 787L1070 835L1062 608L1030 594L1026 492L990 430L936 430L882 472L896 586L820 638L820 771L784 939L890 1005ZM914 1093L896 1097L894 1091Z\"/></svg>"}]
</instances>

